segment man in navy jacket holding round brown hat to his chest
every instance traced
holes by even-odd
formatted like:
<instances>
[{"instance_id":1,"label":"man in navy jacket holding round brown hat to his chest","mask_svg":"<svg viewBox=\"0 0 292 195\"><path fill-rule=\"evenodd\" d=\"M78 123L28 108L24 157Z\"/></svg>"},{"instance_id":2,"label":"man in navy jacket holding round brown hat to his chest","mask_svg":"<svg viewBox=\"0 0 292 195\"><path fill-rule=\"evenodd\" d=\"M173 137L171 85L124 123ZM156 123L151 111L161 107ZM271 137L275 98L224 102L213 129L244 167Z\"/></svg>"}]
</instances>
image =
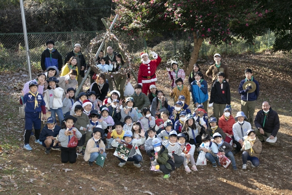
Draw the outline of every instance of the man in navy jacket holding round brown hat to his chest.
<instances>
[{"instance_id":1,"label":"man in navy jacket holding round brown hat to his chest","mask_svg":"<svg viewBox=\"0 0 292 195\"><path fill-rule=\"evenodd\" d=\"M238 93L241 95L241 111L248 117L247 121L253 124L259 84L251 69L245 69L244 74L246 78L241 80L238 87Z\"/></svg>"}]
</instances>

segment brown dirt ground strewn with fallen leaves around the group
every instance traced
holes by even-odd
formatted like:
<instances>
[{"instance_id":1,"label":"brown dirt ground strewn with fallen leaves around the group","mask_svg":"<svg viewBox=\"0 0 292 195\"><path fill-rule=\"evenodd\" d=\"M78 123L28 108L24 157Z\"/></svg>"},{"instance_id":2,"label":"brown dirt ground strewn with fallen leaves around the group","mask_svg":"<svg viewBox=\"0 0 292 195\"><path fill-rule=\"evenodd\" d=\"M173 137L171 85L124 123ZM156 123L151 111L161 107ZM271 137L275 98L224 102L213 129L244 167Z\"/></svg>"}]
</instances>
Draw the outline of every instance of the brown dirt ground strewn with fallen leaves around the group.
<instances>
[{"instance_id":1,"label":"brown dirt ground strewn with fallen leaves around the group","mask_svg":"<svg viewBox=\"0 0 292 195\"><path fill-rule=\"evenodd\" d=\"M222 62L230 71L233 116L240 110L237 92L244 69L252 68L260 83L260 96L256 112L264 100L270 102L280 117L278 141L274 146L263 143L259 157L260 166L242 170L241 154L235 156L237 168L212 168L198 166L199 172L187 174L181 167L163 179L163 174L149 171L149 158L143 154L142 168L128 162L123 168L117 166L114 150L107 151L104 167L90 167L79 156L74 164L61 163L60 152L44 153L44 147L34 143L32 151L23 146L24 119L18 117L19 89L28 81L25 70L18 73L0 73L0 194L8 195L290 195L292 194L292 65L291 56L263 53L223 56ZM201 65L203 73L211 60ZM157 70L158 89L169 99L171 82L166 79L165 67ZM207 79L209 89L211 81ZM132 82L135 84L135 81ZM187 82L186 82L187 83ZM87 83L87 87L89 84ZM86 88L86 87L85 87ZM210 90L209 90L210 92ZM170 102L171 101L170 99ZM171 104L171 103L170 103ZM192 111L193 107L191 106ZM212 110L209 109L209 113ZM255 113L256 114L256 113ZM197 159L197 154L195 159ZM69 171L68 171L69 170Z\"/></svg>"}]
</instances>

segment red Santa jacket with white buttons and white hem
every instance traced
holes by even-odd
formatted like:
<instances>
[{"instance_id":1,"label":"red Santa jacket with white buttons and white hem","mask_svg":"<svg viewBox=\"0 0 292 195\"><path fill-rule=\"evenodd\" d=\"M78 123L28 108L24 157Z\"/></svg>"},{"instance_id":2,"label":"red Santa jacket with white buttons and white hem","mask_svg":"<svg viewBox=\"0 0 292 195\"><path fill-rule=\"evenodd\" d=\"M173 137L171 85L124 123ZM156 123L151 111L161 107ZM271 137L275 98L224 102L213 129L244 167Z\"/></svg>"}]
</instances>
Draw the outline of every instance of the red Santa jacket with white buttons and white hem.
<instances>
[{"instance_id":1,"label":"red Santa jacket with white buttons and white hem","mask_svg":"<svg viewBox=\"0 0 292 195\"><path fill-rule=\"evenodd\" d=\"M158 56L157 59L152 59L149 64L142 63L139 67L138 83L143 84L157 81L155 72L160 62L161 58Z\"/></svg>"}]
</instances>

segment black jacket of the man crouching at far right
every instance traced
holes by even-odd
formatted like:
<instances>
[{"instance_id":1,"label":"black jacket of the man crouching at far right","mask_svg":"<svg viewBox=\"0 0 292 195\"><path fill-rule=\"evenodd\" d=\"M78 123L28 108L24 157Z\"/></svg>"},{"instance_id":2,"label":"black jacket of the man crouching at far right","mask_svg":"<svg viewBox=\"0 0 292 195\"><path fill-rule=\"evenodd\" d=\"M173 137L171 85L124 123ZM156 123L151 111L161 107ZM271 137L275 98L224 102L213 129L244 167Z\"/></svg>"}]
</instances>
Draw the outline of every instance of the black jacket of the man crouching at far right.
<instances>
[{"instance_id":1,"label":"black jacket of the man crouching at far right","mask_svg":"<svg viewBox=\"0 0 292 195\"><path fill-rule=\"evenodd\" d=\"M280 128L280 120L277 112L270 108L269 114L266 117L265 126L263 127L264 118L265 113L263 110L260 110L256 113L256 128L262 128L265 132L271 133L272 136L276 137Z\"/></svg>"}]
</instances>

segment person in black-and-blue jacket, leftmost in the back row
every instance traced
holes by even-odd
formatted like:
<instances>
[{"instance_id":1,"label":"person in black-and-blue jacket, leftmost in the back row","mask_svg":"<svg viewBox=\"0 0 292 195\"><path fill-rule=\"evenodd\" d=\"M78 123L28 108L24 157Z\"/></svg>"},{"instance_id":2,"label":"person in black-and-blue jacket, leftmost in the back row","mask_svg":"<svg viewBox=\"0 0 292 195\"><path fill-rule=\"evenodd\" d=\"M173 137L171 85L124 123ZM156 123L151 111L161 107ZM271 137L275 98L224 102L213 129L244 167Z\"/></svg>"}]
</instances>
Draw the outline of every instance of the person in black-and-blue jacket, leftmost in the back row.
<instances>
[{"instance_id":1,"label":"person in black-and-blue jacket, leftmost in the back row","mask_svg":"<svg viewBox=\"0 0 292 195\"><path fill-rule=\"evenodd\" d=\"M49 66L55 66L59 71L62 69L62 55L54 48L55 42L47 40L45 49L40 58L40 66L43 71L47 71Z\"/></svg>"}]
</instances>

